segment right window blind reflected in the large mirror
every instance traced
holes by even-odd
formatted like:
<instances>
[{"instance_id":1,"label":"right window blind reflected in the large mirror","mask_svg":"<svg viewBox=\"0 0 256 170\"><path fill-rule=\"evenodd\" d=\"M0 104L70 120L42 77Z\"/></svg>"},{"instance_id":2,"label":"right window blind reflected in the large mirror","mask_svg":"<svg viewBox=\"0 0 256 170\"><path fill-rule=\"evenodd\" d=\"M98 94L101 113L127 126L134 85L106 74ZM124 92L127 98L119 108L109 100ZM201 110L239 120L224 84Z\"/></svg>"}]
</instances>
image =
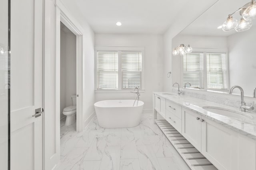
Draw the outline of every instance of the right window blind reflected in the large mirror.
<instances>
[{"instance_id":1,"label":"right window blind reflected in the large mirror","mask_svg":"<svg viewBox=\"0 0 256 170\"><path fill-rule=\"evenodd\" d=\"M207 86L227 89L226 53L207 53Z\"/></svg>"}]
</instances>

